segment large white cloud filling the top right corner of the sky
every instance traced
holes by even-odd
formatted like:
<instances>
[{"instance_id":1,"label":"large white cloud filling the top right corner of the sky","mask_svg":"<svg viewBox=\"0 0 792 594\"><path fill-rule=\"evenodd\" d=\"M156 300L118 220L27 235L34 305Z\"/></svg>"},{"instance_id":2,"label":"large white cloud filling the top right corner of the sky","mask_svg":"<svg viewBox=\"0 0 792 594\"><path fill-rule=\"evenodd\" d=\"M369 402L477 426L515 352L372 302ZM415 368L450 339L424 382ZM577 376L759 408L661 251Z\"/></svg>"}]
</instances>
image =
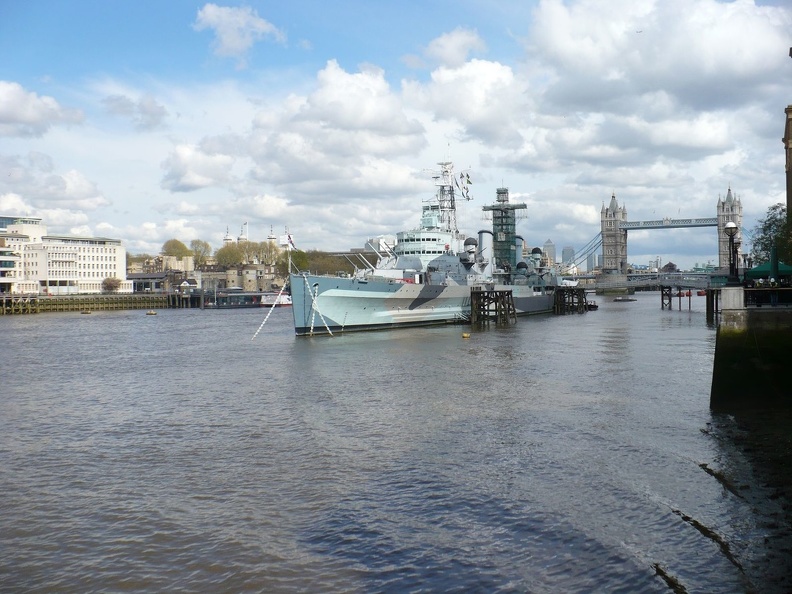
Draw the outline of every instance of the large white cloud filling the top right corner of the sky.
<instances>
[{"instance_id":1,"label":"large white cloud filling the top right corner of the sky","mask_svg":"<svg viewBox=\"0 0 792 594\"><path fill-rule=\"evenodd\" d=\"M663 92L680 108L712 109L777 78L790 26L788 10L751 0L543 0L528 51L552 68L546 97L557 107L617 111Z\"/></svg>"}]
</instances>

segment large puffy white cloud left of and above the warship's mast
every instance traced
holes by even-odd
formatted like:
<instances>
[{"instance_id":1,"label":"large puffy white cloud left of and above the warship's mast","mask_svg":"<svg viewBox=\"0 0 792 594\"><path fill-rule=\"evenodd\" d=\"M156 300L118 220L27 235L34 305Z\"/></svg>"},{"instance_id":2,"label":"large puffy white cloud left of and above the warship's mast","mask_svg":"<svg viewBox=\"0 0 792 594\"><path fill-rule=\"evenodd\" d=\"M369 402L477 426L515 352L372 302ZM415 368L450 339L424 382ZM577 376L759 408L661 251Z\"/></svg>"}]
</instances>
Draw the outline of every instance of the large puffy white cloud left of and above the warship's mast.
<instances>
[{"instance_id":1,"label":"large puffy white cloud left of and above the warship's mast","mask_svg":"<svg viewBox=\"0 0 792 594\"><path fill-rule=\"evenodd\" d=\"M331 60L306 96L257 115L249 139L253 178L293 203L346 204L374 192L401 192L405 168L393 159L423 148L424 128L407 114L381 69L349 73Z\"/></svg>"}]
</instances>

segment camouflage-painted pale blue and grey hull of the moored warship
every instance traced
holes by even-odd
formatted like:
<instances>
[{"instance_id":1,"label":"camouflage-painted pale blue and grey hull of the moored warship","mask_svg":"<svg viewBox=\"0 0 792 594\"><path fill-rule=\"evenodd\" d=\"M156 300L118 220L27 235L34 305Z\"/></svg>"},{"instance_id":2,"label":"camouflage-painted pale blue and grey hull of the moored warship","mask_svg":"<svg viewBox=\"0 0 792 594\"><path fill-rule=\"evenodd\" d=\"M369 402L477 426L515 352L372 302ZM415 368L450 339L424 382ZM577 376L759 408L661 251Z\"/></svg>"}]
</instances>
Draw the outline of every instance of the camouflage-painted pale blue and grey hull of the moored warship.
<instances>
[{"instance_id":1,"label":"camouflage-painted pale blue and grey hull of the moored warship","mask_svg":"<svg viewBox=\"0 0 792 594\"><path fill-rule=\"evenodd\" d=\"M493 288L512 291L518 315L553 310L552 293L534 294L531 287L520 285ZM470 319L469 285L293 274L291 293L298 336L464 323Z\"/></svg>"}]
</instances>

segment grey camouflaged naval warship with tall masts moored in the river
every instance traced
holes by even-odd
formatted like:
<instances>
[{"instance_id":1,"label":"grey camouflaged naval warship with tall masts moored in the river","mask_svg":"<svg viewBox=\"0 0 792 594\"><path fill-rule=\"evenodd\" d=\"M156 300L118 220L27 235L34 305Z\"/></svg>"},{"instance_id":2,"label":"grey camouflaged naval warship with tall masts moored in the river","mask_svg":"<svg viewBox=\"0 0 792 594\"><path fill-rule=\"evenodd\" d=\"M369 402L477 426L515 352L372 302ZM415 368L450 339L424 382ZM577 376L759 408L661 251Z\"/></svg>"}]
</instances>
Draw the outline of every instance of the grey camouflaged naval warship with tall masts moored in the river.
<instances>
[{"instance_id":1,"label":"grey camouflaged naval warship with tall masts moored in the river","mask_svg":"<svg viewBox=\"0 0 792 594\"><path fill-rule=\"evenodd\" d=\"M492 229L467 237L457 228L456 201L470 200L469 174L457 177L449 161L438 165L419 226L397 233L392 247L369 244L376 264L361 258L346 276L289 275L298 336L468 322L474 287L511 291L518 315L553 310L554 271L540 267L538 248L522 258L515 222L526 205L509 203L508 189L499 188L496 203L483 208Z\"/></svg>"}]
</instances>

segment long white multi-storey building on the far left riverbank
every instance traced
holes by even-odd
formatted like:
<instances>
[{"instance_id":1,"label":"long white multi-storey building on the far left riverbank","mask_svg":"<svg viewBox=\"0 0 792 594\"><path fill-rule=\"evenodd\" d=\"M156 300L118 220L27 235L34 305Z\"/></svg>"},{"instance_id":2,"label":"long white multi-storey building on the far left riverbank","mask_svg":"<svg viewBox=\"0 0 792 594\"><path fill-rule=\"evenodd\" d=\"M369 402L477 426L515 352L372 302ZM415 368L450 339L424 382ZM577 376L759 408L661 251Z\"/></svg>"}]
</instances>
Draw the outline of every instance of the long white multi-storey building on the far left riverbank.
<instances>
[{"instance_id":1,"label":"long white multi-storey building on the far left riverbank","mask_svg":"<svg viewBox=\"0 0 792 594\"><path fill-rule=\"evenodd\" d=\"M118 239L47 235L41 219L0 217L0 291L39 295L101 293L106 278L121 281L119 293L131 293L126 279L126 249ZM9 255L10 254L10 255ZM9 259L11 258L11 259ZM13 262L13 269L9 263ZM13 279L13 280L10 280Z\"/></svg>"}]
</instances>

